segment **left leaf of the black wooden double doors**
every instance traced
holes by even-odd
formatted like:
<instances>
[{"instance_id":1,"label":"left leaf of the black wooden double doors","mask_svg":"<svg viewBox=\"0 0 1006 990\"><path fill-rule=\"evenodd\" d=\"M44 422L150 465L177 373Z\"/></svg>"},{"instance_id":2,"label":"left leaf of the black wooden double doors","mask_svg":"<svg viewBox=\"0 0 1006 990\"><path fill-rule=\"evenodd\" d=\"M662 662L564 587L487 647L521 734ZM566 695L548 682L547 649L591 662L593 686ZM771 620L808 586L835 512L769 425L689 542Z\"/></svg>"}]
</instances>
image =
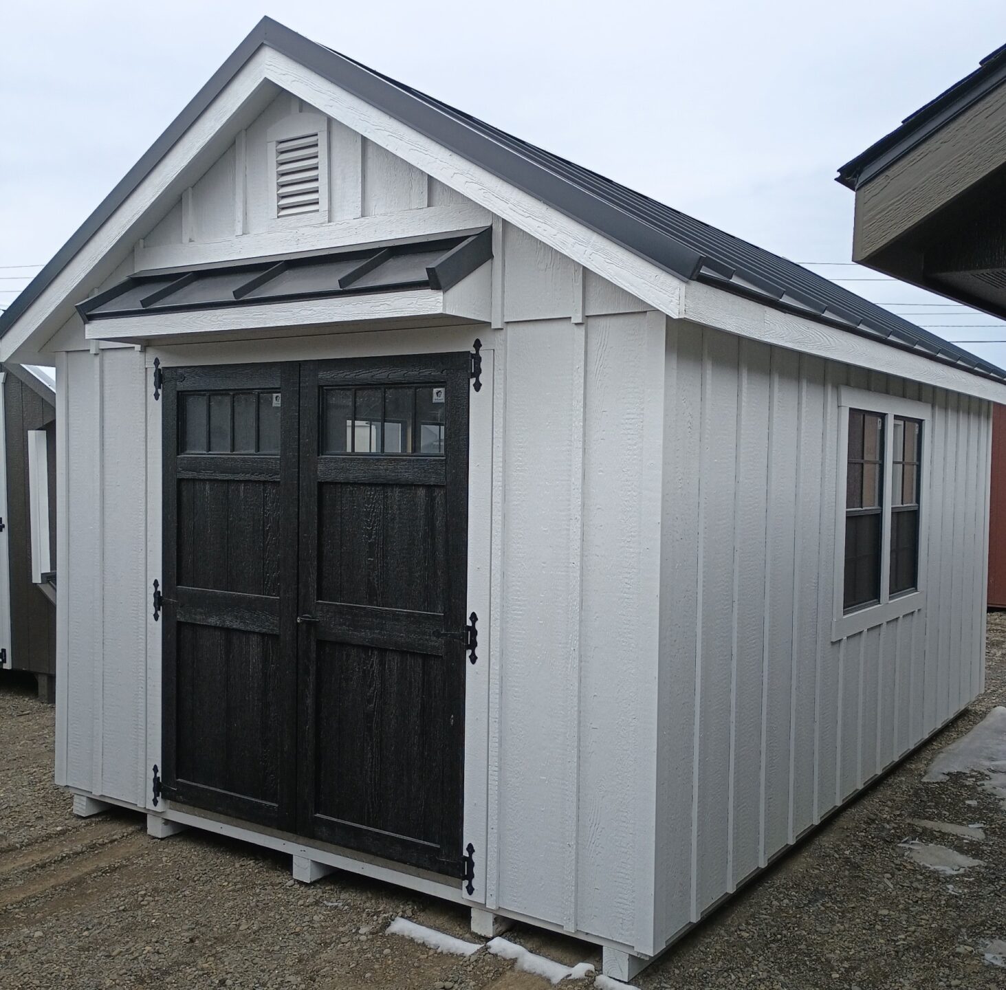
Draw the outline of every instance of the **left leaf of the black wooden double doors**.
<instances>
[{"instance_id":1,"label":"left leaf of the black wooden double doors","mask_svg":"<svg viewBox=\"0 0 1006 990\"><path fill-rule=\"evenodd\" d=\"M296 366L166 369L162 414L165 793L289 831L298 388Z\"/></svg>"}]
</instances>

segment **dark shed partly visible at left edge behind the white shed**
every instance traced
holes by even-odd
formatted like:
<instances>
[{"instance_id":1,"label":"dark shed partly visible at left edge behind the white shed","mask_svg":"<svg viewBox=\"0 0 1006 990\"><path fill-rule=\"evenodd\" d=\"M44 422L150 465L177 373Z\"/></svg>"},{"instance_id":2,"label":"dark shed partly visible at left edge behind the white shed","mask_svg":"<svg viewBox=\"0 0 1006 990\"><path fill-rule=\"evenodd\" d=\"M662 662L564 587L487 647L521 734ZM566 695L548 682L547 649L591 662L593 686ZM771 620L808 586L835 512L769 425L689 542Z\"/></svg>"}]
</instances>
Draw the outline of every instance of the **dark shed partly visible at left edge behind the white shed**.
<instances>
[{"instance_id":1,"label":"dark shed partly visible at left edge behind the white shed","mask_svg":"<svg viewBox=\"0 0 1006 990\"><path fill-rule=\"evenodd\" d=\"M51 369L0 370L0 670L25 670L54 701L55 379ZM6 581L3 579L6 578Z\"/></svg>"}]
</instances>

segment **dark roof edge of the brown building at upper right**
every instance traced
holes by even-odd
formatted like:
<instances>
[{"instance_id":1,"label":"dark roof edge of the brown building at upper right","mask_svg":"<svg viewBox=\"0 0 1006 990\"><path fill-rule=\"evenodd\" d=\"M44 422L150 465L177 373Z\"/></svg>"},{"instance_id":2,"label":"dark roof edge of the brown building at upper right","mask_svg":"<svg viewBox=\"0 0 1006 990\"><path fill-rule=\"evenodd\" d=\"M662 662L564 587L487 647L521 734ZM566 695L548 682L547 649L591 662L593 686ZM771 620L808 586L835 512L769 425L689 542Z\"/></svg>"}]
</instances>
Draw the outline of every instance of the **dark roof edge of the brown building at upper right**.
<instances>
[{"instance_id":1,"label":"dark roof edge of the brown building at upper right","mask_svg":"<svg viewBox=\"0 0 1006 990\"><path fill-rule=\"evenodd\" d=\"M837 181L850 189L865 185L1003 81L1006 81L1006 44L986 55L973 72L905 117L900 127L842 165Z\"/></svg>"}]
</instances>

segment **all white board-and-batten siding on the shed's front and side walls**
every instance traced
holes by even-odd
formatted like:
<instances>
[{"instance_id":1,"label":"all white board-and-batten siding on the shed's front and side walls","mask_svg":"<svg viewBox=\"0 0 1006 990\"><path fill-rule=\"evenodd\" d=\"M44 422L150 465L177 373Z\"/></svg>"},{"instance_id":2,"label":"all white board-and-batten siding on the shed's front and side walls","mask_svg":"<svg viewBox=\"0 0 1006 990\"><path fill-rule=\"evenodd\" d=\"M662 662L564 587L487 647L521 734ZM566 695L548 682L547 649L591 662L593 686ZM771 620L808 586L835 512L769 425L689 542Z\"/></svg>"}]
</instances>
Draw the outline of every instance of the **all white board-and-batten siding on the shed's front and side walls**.
<instances>
[{"instance_id":1,"label":"all white board-and-batten siding on the shed's front and side walls","mask_svg":"<svg viewBox=\"0 0 1006 990\"><path fill-rule=\"evenodd\" d=\"M288 100L275 113L289 110ZM334 223L400 218L364 214L406 198L413 216L424 199L431 214L458 208L381 155L369 156L382 163L370 181L393 173L397 185L368 193L366 145L349 133L330 130L349 149L338 173L333 151L333 182L359 177L332 187ZM249 199L248 227L254 209ZM989 410L666 320L517 227L496 227L499 331L264 339L254 358L465 349L476 334L493 350L486 904L650 954L979 689L987 500L968 499L987 487ZM240 239L189 246L205 260ZM154 354L243 360L248 345L95 355L78 349L77 323L58 343L60 781L143 807L160 759L149 366ZM841 385L935 403L930 604L832 642Z\"/></svg>"}]
</instances>

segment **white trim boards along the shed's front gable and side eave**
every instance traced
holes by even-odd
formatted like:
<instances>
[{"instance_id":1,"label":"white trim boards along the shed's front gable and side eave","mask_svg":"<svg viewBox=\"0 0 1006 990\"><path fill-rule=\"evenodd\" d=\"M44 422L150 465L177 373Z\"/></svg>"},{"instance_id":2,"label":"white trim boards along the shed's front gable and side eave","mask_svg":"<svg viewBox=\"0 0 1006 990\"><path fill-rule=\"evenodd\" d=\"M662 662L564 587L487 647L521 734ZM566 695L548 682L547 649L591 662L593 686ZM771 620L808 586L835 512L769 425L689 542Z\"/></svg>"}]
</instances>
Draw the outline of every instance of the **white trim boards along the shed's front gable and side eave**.
<instances>
[{"instance_id":1,"label":"white trim boards along the shed's front gable and side eave","mask_svg":"<svg viewBox=\"0 0 1006 990\"><path fill-rule=\"evenodd\" d=\"M125 244L132 246L136 241L144 217L158 206L163 208L169 198L180 195L196 171L196 161L208 166L210 153L222 153L250 116L262 109L262 99L253 101L253 97L264 87L268 87L268 93L263 96L272 98L278 90L291 93L668 316L965 394L1006 401L1006 386L991 379L780 313L700 283L683 282L267 45L248 58L209 108L0 339L0 360L10 360L19 349L27 349L26 345L38 348L55 332L66 320L76 297L108 278L114 265L128 255ZM334 230L335 224L326 226ZM47 325L53 316L58 323Z\"/></svg>"}]
</instances>

